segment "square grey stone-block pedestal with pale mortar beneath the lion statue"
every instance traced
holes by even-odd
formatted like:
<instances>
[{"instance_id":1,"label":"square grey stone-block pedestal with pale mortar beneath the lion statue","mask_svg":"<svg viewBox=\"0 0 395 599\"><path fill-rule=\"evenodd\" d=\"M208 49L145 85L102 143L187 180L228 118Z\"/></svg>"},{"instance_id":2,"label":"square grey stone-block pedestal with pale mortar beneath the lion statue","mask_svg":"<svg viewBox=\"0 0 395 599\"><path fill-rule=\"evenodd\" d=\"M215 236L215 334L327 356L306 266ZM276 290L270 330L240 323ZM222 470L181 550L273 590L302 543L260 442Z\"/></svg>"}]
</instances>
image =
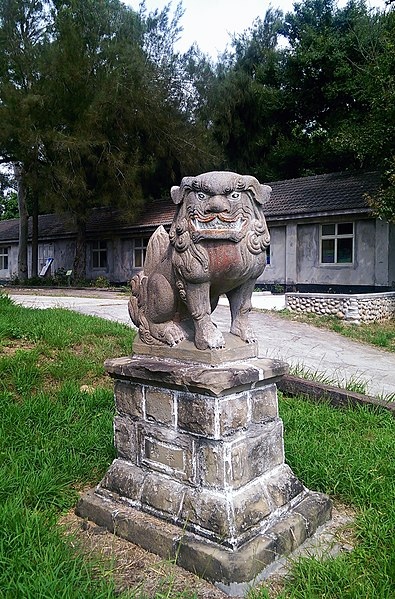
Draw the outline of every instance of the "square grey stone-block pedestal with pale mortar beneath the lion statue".
<instances>
[{"instance_id":1,"label":"square grey stone-block pedestal with pale mortar beneath the lion statue","mask_svg":"<svg viewBox=\"0 0 395 599\"><path fill-rule=\"evenodd\" d=\"M118 457L77 513L238 594L328 520L331 503L284 462L284 363L177 351L106 362Z\"/></svg>"}]
</instances>

